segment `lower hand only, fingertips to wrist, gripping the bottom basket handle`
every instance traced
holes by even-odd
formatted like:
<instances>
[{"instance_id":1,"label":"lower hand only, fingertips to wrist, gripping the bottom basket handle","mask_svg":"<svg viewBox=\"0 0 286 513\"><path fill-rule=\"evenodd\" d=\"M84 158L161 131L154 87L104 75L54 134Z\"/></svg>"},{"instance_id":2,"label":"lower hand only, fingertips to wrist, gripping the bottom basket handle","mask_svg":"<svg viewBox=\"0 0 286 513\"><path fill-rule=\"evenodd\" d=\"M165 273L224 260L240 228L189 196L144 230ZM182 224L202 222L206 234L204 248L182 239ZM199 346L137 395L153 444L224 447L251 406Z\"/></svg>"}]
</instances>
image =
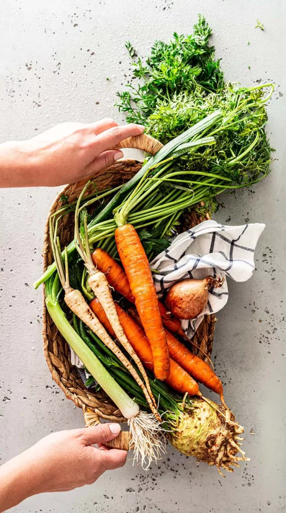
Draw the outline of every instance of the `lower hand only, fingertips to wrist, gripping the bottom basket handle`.
<instances>
[{"instance_id":1,"label":"lower hand only, fingertips to wrist, gripping the bottom basket handle","mask_svg":"<svg viewBox=\"0 0 286 513\"><path fill-rule=\"evenodd\" d=\"M106 470L122 467L127 451L104 445L119 432L119 424L98 424L52 433L37 442L29 449L30 463L36 470L34 479L38 480L36 493L67 491L92 484Z\"/></svg>"}]
</instances>

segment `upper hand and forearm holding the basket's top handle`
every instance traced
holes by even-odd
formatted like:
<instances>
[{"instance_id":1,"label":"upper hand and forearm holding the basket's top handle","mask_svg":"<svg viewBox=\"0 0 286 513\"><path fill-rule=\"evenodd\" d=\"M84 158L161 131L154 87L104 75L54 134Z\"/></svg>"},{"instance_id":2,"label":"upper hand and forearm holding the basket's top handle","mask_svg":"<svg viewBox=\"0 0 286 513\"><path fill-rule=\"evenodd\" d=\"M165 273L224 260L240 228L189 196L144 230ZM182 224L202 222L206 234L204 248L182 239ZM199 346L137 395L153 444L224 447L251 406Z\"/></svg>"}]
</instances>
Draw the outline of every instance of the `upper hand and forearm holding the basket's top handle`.
<instances>
[{"instance_id":1,"label":"upper hand and forearm holding the basket's top handle","mask_svg":"<svg viewBox=\"0 0 286 513\"><path fill-rule=\"evenodd\" d=\"M120 159L113 149L141 125L118 126L112 119L97 123L61 123L27 141L0 145L0 186L56 186L87 179Z\"/></svg>"}]
</instances>

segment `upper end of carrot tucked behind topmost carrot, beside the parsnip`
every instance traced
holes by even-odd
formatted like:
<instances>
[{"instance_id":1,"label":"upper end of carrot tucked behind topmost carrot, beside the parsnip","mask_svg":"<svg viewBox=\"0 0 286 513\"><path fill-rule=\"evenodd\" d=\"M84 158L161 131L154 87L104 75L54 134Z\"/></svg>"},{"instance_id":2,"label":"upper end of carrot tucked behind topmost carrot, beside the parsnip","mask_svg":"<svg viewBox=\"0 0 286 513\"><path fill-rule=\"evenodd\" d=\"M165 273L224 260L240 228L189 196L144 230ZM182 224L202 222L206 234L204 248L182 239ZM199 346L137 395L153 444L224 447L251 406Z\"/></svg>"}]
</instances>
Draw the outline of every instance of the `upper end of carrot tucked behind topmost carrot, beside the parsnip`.
<instances>
[{"instance_id":1,"label":"upper end of carrot tucked behind topmost carrot, beside the parsnip","mask_svg":"<svg viewBox=\"0 0 286 513\"><path fill-rule=\"evenodd\" d=\"M91 253L91 258L95 267L106 275L109 285L124 295L131 303L134 303L135 300L122 267L106 251L100 248L96 248Z\"/></svg>"}]
</instances>

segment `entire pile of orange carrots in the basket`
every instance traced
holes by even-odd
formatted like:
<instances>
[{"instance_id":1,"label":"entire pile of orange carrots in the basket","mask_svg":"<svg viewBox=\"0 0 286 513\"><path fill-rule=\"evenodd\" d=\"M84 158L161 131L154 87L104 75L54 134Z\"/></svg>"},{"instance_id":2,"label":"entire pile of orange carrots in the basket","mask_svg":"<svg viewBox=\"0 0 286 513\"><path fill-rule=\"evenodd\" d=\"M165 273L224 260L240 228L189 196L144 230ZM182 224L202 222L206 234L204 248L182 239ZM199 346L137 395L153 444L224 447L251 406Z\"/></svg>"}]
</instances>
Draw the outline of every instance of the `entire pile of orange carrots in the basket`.
<instances>
[{"instance_id":1,"label":"entire pile of orange carrots in the basket","mask_svg":"<svg viewBox=\"0 0 286 513\"><path fill-rule=\"evenodd\" d=\"M175 337L174 333L183 337L185 333L178 319L170 318L164 304L158 301L144 248L134 228L126 226L128 233L132 233L132 245L125 246L124 239L125 247L122 247L122 238L118 239L122 230L119 235L115 234L115 238L122 265L128 274L100 248L93 251L92 260L96 268L106 275L109 285L136 305L137 310L130 307L127 313L116 304L119 321L130 344L144 366L154 371L156 378L165 380L174 390L200 396L198 381L218 393L222 404L226 406L222 383L210 365L195 356ZM130 266L130 261L133 266ZM140 305L139 308L137 305ZM90 302L90 307L111 337L114 337L112 326L97 298Z\"/></svg>"}]
</instances>

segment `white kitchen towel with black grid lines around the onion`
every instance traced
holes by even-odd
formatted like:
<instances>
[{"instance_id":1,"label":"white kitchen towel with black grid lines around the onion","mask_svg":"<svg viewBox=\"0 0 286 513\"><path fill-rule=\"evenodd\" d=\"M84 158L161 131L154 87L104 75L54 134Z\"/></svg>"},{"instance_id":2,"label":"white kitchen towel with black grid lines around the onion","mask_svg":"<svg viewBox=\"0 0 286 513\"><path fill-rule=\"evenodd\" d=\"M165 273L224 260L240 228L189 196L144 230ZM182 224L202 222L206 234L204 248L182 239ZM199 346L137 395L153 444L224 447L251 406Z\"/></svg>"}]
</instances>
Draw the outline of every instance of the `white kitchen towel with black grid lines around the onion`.
<instances>
[{"instance_id":1,"label":"white kitchen towel with black grid lines around the onion","mask_svg":"<svg viewBox=\"0 0 286 513\"><path fill-rule=\"evenodd\" d=\"M236 282L248 280L254 271L254 250L265 225L261 223L228 226L213 219L180 233L165 251L150 264L159 298L175 282L187 278L201 280L208 275L229 277ZM218 312L228 301L228 284L209 290L205 310L192 321L182 321L189 338L200 325L203 316Z\"/></svg>"}]
</instances>

